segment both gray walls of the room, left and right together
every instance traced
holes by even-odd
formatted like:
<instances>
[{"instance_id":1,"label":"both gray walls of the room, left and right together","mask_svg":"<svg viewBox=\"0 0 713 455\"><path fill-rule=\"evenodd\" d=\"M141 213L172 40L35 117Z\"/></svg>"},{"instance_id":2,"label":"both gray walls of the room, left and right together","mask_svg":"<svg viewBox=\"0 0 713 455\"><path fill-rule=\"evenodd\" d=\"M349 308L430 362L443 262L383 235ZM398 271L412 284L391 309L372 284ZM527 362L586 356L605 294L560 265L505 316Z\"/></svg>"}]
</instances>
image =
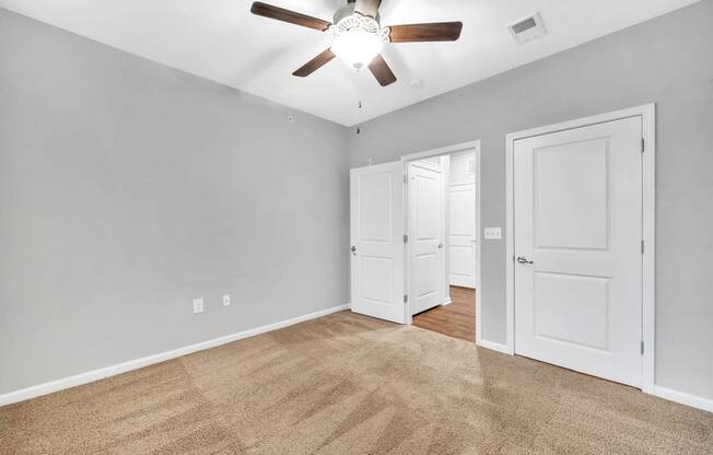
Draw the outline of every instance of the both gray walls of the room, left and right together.
<instances>
[{"instance_id":1,"label":"both gray walls of the room, left and right together","mask_svg":"<svg viewBox=\"0 0 713 455\"><path fill-rule=\"evenodd\" d=\"M348 143L0 10L0 394L346 303L347 148L356 167L481 139L482 225L503 226L506 132L656 102L656 381L713 398L712 20L705 0ZM502 342L504 244L482 260L483 336Z\"/></svg>"}]
</instances>

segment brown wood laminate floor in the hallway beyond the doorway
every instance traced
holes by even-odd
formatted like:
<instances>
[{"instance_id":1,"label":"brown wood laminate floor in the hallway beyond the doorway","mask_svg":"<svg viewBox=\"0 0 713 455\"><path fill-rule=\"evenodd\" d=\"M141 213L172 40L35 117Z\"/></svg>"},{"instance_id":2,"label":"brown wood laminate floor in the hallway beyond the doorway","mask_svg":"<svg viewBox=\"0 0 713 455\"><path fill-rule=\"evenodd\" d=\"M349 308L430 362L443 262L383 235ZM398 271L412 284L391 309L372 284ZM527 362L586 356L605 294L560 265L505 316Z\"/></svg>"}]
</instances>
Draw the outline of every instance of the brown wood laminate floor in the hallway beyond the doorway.
<instances>
[{"instance_id":1,"label":"brown wood laminate floor in the hallway beyond the doorway","mask_svg":"<svg viewBox=\"0 0 713 455\"><path fill-rule=\"evenodd\" d=\"M476 291L451 287L451 304L413 316L413 325L467 341L476 340Z\"/></svg>"}]
</instances>

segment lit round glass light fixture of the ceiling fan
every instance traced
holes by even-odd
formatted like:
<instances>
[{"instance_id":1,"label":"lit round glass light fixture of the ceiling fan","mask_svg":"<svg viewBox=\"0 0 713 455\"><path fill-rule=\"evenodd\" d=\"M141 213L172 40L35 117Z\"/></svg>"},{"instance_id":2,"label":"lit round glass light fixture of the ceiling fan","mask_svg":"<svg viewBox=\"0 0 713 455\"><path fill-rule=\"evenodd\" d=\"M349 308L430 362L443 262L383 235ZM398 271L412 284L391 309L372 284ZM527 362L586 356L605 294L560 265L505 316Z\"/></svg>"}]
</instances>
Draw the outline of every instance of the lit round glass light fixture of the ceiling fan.
<instances>
[{"instance_id":1,"label":"lit round glass light fixture of the ceiling fan","mask_svg":"<svg viewBox=\"0 0 713 455\"><path fill-rule=\"evenodd\" d=\"M331 30L335 35L331 51L356 70L367 67L388 40L388 28L359 13L343 18Z\"/></svg>"}]
</instances>

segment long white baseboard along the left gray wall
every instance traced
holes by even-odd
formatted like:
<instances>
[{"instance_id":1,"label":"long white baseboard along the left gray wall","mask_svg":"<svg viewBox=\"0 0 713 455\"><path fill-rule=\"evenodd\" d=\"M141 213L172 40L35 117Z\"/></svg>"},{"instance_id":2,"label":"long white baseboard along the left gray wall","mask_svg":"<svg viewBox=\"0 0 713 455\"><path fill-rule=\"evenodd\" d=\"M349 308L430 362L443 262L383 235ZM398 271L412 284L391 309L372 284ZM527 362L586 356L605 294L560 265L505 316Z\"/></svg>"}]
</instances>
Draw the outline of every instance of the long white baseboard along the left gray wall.
<instances>
[{"instance_id":1,"label":"long white baseboard along the left gray wall","mask_svg":"<svg viewBox=\"0 0 713 455\"><path fill-rule=\"evenodd\" d=\"M217 346L225 345L232 341L242 340L244 338L254 337L256 335L277 330L294 324L303 323L305 320L316 319L317 317L337 313L342 310L348 310L349 307L350 307L349 304L332 306L331 308L320 310L318 312L293 317L291 319L280 320L278 323L268 324L266 326L260 326L244 331L238 331L236 334L226 335L224 337L213 338L212 340L198 342L196 345L186 346L183 348L174 349L172 351L161 352L153 355L147 355L140 359L129 360L128 362L117 363L115 365L105 366L103 369L89 371L86 373L80 373L73 376L63 377L61 380L50 381L47 383L33 385L31 387L21 388L20 390L14 390L14 392L0 395L0 406L24 401L26 399L51 394L54 392L63 390L70 387L75 387L82 384L93 383L95 381L103 380L105 377L115 376L117 374L126 373L132 370L138 370L144 366L152 365L154 363L165 362L166 360L171 360L197 351L214 348Z\"/></svg>"}]
</instances>

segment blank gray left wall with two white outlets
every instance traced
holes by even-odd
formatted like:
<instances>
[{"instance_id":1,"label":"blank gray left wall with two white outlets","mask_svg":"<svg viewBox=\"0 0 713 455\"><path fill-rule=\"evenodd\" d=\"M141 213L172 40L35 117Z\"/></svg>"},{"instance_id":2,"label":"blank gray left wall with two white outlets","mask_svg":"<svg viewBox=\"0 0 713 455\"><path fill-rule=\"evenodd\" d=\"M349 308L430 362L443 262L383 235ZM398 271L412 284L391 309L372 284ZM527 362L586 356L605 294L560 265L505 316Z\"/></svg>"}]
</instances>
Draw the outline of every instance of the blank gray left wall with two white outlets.
<instances>
[{"instance_id":1,"label":"blank gray left wall with two white outlets","mask_svg":"<svg viewBox=\"0 0 713 455\"><path fill-rule=\"evenodd\" d=\"M348 160L343 127L0 10L0 394L347 303Z\"/></svg>"}]
</instances>

